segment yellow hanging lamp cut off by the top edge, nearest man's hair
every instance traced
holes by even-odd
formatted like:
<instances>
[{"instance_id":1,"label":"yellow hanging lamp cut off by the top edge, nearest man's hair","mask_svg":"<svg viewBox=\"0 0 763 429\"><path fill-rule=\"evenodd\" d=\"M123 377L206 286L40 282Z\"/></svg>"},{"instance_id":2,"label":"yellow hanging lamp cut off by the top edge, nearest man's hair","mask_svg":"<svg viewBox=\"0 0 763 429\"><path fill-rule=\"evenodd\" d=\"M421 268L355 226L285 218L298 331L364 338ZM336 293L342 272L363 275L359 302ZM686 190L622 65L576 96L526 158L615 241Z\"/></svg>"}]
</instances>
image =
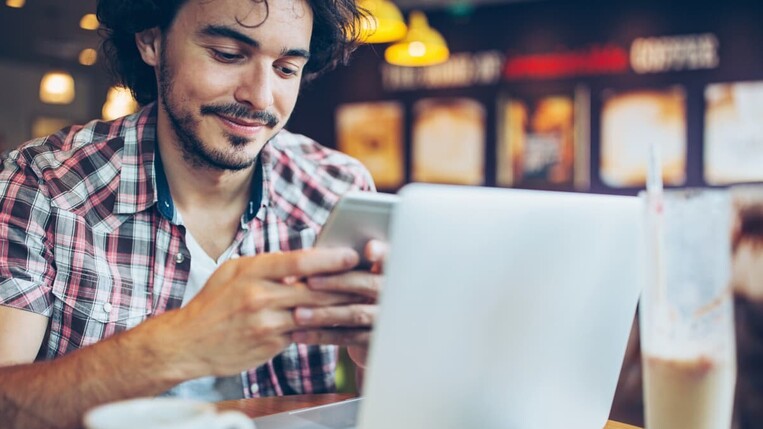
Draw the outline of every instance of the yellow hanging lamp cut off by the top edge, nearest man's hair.
<instances>
[{"instance_id":1,"label":"yellow hanging lamp cut off by the top edge, nearest man's hair","mask_svg":"<svg viewBox=\"0 0 763 429\"><path fill-rule=\"evenodd\" d=\"M400 9L390 0L360 0L358 6L370 13L360 21L360 40L388 43L405 37L407 27Z\"/></svg>"}]
</instances>

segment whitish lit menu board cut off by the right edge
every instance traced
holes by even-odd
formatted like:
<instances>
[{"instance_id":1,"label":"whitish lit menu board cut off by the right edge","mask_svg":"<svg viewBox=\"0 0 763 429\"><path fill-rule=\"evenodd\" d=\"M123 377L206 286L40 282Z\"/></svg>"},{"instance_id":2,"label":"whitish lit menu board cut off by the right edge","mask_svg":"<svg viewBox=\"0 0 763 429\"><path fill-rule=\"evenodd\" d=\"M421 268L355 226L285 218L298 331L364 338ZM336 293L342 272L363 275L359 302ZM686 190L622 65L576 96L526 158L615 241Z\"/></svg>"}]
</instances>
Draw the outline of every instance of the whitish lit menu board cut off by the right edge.
<instances>
[{"instance_id":1,"label":"whitish lit menu board cut off by the right edge","mask_svg":"<svg viewBox=\"0 0 763 429\"><path fill-rule=\"evenodd\" d=\"M704 175L712 185L763 181L763 82L705 89Z\"/></svg>"}]
</instances>

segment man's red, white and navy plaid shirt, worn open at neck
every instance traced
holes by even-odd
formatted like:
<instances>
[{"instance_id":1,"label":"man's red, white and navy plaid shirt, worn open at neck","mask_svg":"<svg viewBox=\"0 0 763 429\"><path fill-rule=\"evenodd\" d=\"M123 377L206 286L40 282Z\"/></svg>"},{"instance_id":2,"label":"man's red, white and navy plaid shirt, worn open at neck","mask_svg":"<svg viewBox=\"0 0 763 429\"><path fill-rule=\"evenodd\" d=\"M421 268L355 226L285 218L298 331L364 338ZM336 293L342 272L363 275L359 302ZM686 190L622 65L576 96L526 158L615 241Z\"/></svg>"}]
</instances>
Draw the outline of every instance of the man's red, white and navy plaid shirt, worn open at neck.
<instances>
[{"instance_id":1,"label":"man's red, white and navy plaid shirt, worn open at neck","mask_svg":"<svg viewBox=\"0 0 763 429\"><path fill-rule=\"evenodd\" d=\"M0 166L0 305L50 318L54 359L178 308L191 261L156 157L156 107L25 143ZM340 195L373 189L354 159L285 130L259 156L234 239L255 255L312 246ZM164 185L164 186L163 186ZM336 347L292 344L242 373L244 397L334 389Z\"/></svg>"}]
</instances>

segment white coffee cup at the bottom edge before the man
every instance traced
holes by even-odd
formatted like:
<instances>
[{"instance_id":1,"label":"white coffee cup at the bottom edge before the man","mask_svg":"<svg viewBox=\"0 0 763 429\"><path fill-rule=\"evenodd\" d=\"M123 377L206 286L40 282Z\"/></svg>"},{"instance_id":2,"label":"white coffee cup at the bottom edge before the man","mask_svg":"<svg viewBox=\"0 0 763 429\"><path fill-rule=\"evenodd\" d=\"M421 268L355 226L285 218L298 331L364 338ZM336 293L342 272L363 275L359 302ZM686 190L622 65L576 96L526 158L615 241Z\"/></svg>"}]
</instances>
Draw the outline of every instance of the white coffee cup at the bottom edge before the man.
<instances>
[{"instance_id":1,"label":"white coffee cup at the bottom edge before the man","mask_svg":"<svg viewBox=\"0 0 763 429\"><path fill-rule=\"evenodd\" d=\"M255 429L238 411L180 398L137 398L97 406L85 414L87 429Z\"/></svg>"}]
</instances>

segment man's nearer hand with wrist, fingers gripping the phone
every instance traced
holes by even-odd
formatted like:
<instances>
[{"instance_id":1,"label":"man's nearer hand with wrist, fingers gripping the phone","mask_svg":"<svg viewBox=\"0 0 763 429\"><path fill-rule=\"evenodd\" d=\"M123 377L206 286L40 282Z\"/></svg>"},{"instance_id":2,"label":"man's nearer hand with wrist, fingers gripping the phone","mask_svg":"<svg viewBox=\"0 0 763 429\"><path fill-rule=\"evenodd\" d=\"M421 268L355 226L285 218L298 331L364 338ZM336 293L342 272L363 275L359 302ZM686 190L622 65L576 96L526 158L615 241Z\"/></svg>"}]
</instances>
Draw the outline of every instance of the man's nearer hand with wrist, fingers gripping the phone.
<instances>
[{"instance_id":1,"label":"man's nearer hand with wrist, fingers gripping the phone","mask_svg":"<svg viewBox=\"0 0 763 429\"><path fill-rule=\"evenodd\" d=\"M187 306L136 330L152 329L156 341L175 351L170 360L183 370L183 378L234 374L266 362L292 342L291 333L301 329L293 316L295 308L346 312L365 305L359 304L364 298L351 293L357 286L313 290L303 280L333 278L357 263L358 255L351 249L307 249L233 259L212 275ZM346 317L358 316L340 317L337 323Z\"/></svg>"}]
</instances>

